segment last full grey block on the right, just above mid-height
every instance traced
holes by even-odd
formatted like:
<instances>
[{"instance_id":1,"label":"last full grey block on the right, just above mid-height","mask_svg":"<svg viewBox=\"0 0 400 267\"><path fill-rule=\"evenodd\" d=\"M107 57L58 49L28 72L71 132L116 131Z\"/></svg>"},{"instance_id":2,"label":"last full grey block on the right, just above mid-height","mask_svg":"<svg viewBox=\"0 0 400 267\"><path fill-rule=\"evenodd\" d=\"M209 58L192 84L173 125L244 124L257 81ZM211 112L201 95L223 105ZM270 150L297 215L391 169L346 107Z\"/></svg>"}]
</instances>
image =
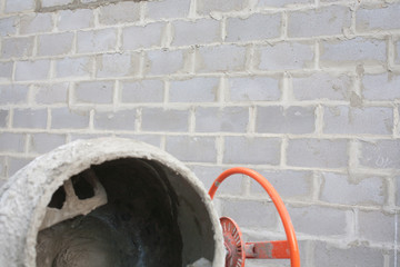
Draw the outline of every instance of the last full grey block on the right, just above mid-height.
<instances>
[{"instance_id":1,"label":"last full grey block on the right, just above mid-height","mask_svg":"<svg viewBox=\"0 0 400 267\"><path fill-rule=\"evenodd\" d=\"M391 135L393 111L384 107L326 107L323 121L327 134Z\"/></svg>"}]
</instances>

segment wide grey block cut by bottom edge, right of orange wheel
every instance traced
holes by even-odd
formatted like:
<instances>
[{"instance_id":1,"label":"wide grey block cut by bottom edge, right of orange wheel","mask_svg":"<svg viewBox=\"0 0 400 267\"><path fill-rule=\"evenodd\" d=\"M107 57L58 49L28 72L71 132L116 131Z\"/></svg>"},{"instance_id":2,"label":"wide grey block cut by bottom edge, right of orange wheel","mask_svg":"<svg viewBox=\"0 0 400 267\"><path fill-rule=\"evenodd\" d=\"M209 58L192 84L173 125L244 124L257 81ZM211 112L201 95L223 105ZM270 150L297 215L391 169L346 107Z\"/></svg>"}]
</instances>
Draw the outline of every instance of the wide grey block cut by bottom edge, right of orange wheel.
<instances>
[{"instance_id":1,"label":"wide grey block cut by bottom edge, right of orange wheel","mask_svg":"<svg viewBox=\"0 0 400 267\"><path fill-rule=\"evenodd\" d=\"M327 266L327 263L331 267L383 266L382 253L369 247L338 248L317 241L313 255L314 266Z\"/></svg>"}]
</instances>

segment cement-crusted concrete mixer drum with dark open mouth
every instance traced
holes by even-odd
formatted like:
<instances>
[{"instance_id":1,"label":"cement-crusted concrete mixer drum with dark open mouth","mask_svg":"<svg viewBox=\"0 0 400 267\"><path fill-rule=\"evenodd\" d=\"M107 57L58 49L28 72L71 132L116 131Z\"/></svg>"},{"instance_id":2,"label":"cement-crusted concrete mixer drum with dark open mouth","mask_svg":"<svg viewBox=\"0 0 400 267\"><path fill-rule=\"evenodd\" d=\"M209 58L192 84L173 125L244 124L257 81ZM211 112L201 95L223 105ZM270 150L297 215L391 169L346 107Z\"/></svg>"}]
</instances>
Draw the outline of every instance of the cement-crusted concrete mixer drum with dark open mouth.
<instances>
[{"instance_id":1,"label":"cement-crusted concrete mixer drum with dark open mouth","mask_svg":"<svg viewBox=\"0 0 400 267\"><path fill-rule=\"evenodd\" d=\"M167 152L121 138L43 155L0 191L0 265L224 265L211 199Z\"/></svg>"}]
</instances>

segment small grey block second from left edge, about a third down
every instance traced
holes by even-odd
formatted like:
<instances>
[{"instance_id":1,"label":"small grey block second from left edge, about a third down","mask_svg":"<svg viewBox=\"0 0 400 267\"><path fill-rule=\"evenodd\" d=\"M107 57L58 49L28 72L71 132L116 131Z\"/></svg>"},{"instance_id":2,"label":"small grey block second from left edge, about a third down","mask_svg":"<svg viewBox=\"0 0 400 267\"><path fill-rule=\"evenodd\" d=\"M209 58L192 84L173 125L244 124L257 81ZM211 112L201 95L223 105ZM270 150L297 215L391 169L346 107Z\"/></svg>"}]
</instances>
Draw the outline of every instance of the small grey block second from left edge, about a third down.
<instances>
[{"instance_id":1,"label":"small grey block second from left edge, about a third down","mask_svg":"<svg viewBox=\"0 0 400 267\"><path fill-rule=\"evenodd\" d=\"M64 103L68 87L69 82L38 85L33 89L34 101L39 105Z\"/></svg>"}]
</instances>

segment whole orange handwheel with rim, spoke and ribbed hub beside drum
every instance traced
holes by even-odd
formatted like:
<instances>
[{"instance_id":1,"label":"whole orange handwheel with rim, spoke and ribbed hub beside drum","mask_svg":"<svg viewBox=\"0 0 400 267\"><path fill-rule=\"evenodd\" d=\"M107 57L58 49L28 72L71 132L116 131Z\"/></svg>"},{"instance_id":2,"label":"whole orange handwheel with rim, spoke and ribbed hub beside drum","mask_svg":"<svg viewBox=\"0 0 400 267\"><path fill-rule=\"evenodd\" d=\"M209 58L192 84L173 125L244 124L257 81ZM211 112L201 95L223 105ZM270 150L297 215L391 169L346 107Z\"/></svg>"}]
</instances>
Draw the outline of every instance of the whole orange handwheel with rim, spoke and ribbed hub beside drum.
<instances>
[{"instance_id":1,"label":"whole orange handwheel with rim, spoke and ribbed hub beside drum","mask_svg":"<svg viewBox=\"0 0 400 267\"><path fill-rule=\"evenodd\" d=\"M236 167L223 171L212 184L209 195L211 199L216 195L221 182L231 175L242 174L258 181L271 197L278 214L282 220L287 240L246 243L242 239L238 225L228 217L220 218L224 246L227 249L226 267L243 267L246 258L283 259L290 258L291 267L300 267L299 246L297 243L293 225L288 210L277 190L259 172Z\"/></svg>"}]
</instances>

